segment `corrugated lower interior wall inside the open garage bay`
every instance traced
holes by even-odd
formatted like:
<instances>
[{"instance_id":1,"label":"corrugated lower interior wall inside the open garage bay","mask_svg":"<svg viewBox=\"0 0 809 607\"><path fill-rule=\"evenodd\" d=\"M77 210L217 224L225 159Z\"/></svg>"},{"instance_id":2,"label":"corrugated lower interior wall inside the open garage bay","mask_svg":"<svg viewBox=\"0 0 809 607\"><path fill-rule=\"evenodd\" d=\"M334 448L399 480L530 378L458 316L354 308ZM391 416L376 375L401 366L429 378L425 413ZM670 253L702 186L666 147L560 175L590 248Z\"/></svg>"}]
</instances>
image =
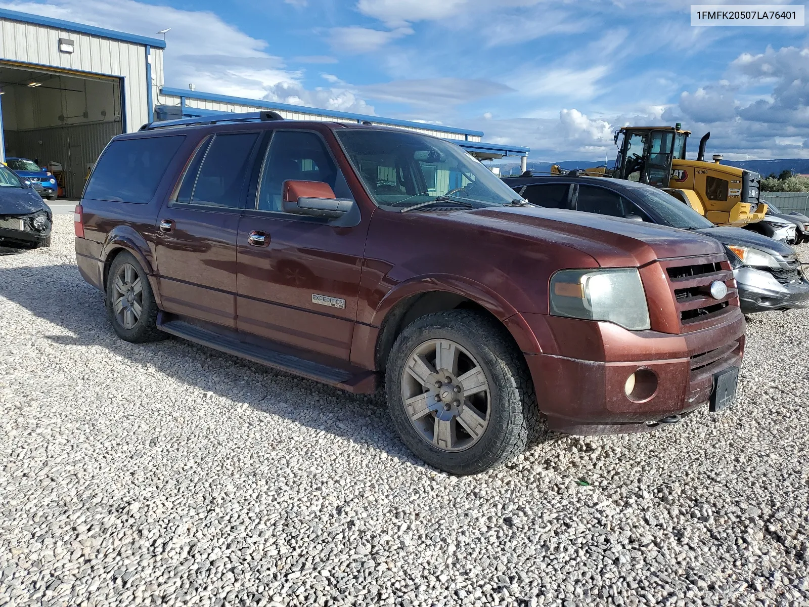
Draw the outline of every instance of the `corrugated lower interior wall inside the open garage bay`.
<instances>
[{"instance_id":1,"label":"corrugated lower interior wall inside the open garage bay","mask_svg":"<svg viewBox=\"0 0 809 607\"><path fill-rule=\"evenodd\" d=\"M5 134L9 155L39 159L40 164L53 160L61 163L66 194L78 198L84 189L87 165L95 163L109 140L121 134L121 122L11 130Z\"/></svg>"}]
</instances>

